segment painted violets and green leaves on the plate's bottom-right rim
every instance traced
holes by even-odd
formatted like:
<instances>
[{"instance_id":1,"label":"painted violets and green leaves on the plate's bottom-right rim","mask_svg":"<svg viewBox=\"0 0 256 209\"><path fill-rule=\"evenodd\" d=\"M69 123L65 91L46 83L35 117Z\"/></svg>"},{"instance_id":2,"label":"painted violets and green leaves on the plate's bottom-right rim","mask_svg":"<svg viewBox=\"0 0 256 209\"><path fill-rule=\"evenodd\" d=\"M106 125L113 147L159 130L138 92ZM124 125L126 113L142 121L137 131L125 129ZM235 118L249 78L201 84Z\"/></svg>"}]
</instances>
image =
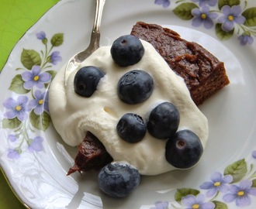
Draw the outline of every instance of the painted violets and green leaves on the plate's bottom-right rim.
<instances>
[{"instance_id":1,"label":"painted violets and green leaves on the plate's bottom-right rim","mask_svg":"<svg viewBox=\"0 0 256 209\"><path fill-rule=\"evenodd\" d=\"M169 208L246 208L256 197L256 150L247 159L231 163L223 172L215 172L199 189L176 190L175 202L157 201L150 209ZM200 190L201 189L201 190Z\"/></svg>"}]
</instances>

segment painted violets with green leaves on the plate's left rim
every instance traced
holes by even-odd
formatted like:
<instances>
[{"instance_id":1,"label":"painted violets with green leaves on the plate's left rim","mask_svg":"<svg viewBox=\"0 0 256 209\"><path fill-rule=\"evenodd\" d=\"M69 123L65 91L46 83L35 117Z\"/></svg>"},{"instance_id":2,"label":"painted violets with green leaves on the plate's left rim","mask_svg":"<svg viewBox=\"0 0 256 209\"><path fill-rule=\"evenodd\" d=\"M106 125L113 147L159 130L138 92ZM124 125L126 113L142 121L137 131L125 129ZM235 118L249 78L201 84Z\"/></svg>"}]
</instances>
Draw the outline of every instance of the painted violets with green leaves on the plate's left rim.
<instances>
[{"instance_id":1,"label":"painted violets with green leaves on the plate's left rim","mask_svg":"<svg viewBox=\"0 0 256 209\"><path fill-rule=\"evenodd\" d=\"M44 50L23 49L22 67L16 69L9 90L12 98L6 98L2 128L9 129L10 159L19 159L22 152L40 152L43 150L43 137L39 131L46 131L50 125L47 87L54 78L54 65L62 60L59 51L54 50L64 41L63 33L56 33L47 39L46 33L36 33ZM37 130L37 132L36 132Z\"/></svg>"}]
</instances>

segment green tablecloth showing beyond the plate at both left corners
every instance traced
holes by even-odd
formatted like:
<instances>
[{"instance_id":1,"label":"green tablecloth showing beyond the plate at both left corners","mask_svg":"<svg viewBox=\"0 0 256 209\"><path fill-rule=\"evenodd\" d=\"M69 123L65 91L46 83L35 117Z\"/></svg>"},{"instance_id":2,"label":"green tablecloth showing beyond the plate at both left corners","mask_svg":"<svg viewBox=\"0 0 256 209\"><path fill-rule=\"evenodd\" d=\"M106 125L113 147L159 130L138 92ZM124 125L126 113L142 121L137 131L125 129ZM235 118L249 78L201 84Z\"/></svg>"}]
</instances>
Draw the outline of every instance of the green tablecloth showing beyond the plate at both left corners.
<instances>
[{"instance_id":1,"label":"green tablecloth showing beyond the plate at both left corners","mask_svg":"<svg viewBox=\"0 0 256 209\"><path fill-rule=\"evenodd\" d=\"M59 0L2 0L0 6L0 72L13 46L29 27ZM1 76L1 74L0 74ZM0 171L0 208L24 208Z\"/></svg>"}]
</instances>

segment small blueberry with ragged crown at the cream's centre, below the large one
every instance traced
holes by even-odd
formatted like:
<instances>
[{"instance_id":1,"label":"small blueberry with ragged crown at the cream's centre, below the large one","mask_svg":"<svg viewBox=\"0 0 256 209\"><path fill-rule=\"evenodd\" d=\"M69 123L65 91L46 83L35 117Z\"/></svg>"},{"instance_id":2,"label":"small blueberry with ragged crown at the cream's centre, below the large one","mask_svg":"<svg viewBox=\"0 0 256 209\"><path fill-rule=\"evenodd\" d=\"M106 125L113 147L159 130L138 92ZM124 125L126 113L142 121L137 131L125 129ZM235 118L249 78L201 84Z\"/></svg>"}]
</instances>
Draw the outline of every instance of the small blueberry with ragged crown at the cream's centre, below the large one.
<instances>
[{"instance_id":1,"label":"small blueberry with ragged crown at the cream's centre, below the large one","mask_svg":"<svg viewBox=\"0 0 256 209\"><path fill-rule=\"evenodd\" d=\"M116 125L118 135L126 142L140 142L147 132L147 126L140 115L126 113Z\"/></svg>"}]
</instances>

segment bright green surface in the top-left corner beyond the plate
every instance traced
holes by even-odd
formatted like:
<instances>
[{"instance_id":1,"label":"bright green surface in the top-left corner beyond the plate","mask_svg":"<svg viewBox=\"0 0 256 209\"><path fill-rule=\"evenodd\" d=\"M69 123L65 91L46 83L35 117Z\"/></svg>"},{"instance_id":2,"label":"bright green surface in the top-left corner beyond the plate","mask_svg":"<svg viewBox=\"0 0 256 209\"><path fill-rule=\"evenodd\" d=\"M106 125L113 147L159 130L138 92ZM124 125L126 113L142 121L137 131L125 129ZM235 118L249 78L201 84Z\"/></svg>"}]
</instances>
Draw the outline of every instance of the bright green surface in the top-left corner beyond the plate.
<instances>
[{"instance_id":1,"label":"bright green surface in the top-left corner beyond the plate","mask_svg":"<svg viewBox=\"0 0 256 209\"><path fill-rule=\"evenodd\" d=\"M58 0L1 0L0 71L13 46Z\"/></svg>"}]
</instances>

